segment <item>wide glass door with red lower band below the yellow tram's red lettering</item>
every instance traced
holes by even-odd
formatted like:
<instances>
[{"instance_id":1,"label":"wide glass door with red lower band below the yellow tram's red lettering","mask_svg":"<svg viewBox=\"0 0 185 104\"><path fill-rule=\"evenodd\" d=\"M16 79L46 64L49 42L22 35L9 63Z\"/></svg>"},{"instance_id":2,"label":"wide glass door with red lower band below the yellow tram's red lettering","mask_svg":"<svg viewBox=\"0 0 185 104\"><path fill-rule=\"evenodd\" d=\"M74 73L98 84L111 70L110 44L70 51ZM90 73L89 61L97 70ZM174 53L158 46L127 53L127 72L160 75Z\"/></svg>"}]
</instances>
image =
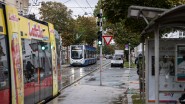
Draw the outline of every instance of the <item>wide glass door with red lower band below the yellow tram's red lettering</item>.
<instances>
[{"instance_id":1,"label":"wide glass door with red lower band below the yellow tram's red lettering","mask_svg":"<svg viewBox=\"0 0 185 104\"><path fill-rule=\"evenodd\" d=\"M33 39L22 39L22 47L24 103L38 103L52 96L51 50L48 43Z\"/></svg>"}]
</instances>

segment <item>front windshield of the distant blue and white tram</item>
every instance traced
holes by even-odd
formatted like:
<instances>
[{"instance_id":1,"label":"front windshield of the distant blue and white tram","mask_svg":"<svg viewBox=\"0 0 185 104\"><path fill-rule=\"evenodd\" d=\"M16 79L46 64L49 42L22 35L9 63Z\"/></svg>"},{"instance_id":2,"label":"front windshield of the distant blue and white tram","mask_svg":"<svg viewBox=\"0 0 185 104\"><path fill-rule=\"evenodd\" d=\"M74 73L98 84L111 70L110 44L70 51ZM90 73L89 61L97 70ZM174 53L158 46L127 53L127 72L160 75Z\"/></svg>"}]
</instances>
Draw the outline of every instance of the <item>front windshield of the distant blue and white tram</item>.
<instances>
[{"instance_id":1,"label":"front windshield of the distant blue and white tram","mask_svg":"<svg viewBox=\"0 0 185 104\"><path fill-rule=\"evenodd\" d=\"M72 46L71 47L71 58L72 59L82 59L83 56L83 46Z\"/></svg>"}]
</instances>

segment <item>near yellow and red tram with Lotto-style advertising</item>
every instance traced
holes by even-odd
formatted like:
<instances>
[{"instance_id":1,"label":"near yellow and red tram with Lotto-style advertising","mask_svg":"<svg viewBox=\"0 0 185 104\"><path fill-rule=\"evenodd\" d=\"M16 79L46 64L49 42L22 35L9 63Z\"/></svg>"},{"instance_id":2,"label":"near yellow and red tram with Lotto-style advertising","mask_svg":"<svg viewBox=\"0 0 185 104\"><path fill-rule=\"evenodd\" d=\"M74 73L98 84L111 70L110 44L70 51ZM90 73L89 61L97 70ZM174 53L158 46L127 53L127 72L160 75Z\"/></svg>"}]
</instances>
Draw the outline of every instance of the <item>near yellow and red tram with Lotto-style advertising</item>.
<instances>
[{"instance_id":1,"label":"near yellow and red tram with Lotto-style advertising","mask_svg":"<svg viewBox=\"0 0 185 104\"><path fill-rule=\"evenodd\" d=\"M0 104L34 104L59 94L54 26L0 4Z\"/></svg>"}]
</instances>

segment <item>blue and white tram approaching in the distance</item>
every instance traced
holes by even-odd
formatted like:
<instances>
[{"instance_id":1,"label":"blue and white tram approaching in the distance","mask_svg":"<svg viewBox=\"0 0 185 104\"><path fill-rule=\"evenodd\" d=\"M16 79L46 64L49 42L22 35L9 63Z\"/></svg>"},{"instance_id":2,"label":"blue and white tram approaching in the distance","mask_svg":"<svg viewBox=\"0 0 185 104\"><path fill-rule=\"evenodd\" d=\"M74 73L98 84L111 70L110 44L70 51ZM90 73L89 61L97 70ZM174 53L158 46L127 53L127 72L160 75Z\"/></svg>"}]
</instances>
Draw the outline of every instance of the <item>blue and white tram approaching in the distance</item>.
<instances>
[{"instance_id":1,"label":"blue and white tram approaching in the distance","mask_svg":"<svg viewBox=\"0 0 185 104\"><path fill-rule=\"evenodd\" d=\"M96 48L88 45L70 46L70 64L71 66L87 66L95 64Z\"/></svg>"}]
</instances>

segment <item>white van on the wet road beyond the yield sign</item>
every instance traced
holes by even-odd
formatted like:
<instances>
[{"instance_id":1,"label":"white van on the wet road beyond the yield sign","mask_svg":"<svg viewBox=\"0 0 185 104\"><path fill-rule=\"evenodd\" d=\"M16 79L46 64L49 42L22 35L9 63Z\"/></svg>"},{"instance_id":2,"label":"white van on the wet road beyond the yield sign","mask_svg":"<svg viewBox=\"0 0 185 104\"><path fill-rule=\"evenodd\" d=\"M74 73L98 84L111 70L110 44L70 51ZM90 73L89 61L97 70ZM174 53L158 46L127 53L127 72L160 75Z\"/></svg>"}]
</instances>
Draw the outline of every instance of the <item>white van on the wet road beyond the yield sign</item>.
<instances>
[{"instance_id":1,"label":"white van on the wet road beyond the yield sign","mask_svg":"<svg viewBox=\"0 0 185 104\"><path fill-rule=\"evenodd\" d=\"M123 68L123 55L119 55L116 54L113 56L112 60L111 60L111 67L113 66L119 66L121 68Z\"/></svg>"}]
</instances>

